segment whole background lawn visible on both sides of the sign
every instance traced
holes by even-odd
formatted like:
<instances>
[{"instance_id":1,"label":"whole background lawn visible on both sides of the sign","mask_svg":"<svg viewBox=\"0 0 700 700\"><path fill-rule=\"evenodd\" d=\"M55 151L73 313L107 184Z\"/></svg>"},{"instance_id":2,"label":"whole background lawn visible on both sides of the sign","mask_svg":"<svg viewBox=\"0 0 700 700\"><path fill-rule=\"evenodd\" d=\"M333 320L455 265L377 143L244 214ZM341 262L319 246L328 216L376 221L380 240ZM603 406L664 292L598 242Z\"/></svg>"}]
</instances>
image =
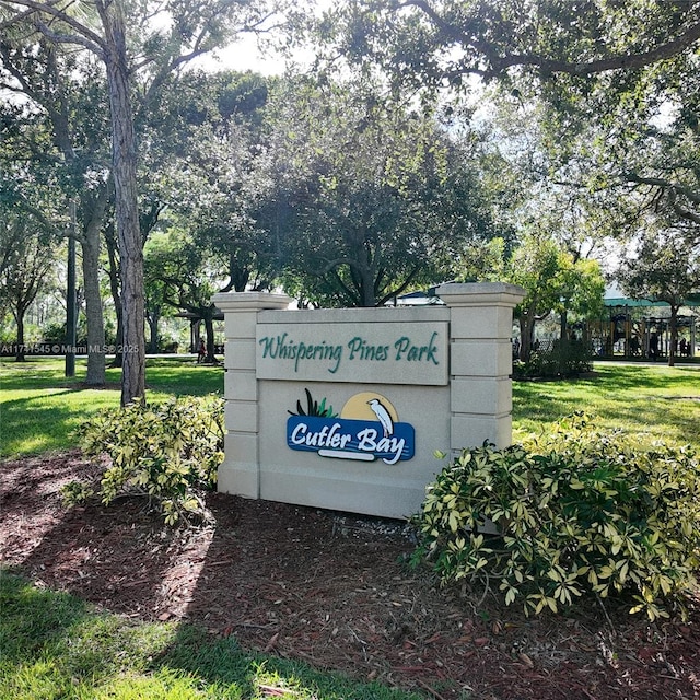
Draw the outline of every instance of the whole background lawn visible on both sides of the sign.
<instances>
[{"instance_id":1,"label":"whole background lawn visible on both sides of the sign","mask_svg":"<svg viewBox=\"0 0 700 700\"><path fill-rule=\"evenodd\" d=\"M74 430L92 412L119 405L120 370L107 370L107 388L84 385L85 360L75 377L62 359L0 361L0 457L75 446ZM149 359L148 397L223 392L223 370L192 358ZM514 382L513 428L539 432L563 416L585 410L600 427L643 432L700 447L700 366L597 363L595 375L565 382Z\"/></svg>"}]
</instances>

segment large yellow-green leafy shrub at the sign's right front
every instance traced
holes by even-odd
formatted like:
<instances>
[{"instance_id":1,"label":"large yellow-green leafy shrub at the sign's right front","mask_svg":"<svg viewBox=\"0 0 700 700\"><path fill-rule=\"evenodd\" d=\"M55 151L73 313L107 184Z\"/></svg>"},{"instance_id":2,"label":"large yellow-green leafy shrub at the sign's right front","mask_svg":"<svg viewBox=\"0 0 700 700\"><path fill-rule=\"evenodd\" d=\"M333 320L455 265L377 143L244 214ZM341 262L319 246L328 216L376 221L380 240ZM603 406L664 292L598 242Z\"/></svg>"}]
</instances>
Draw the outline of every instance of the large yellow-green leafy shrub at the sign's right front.
<instances>
[{"instance_id":1,"label":"large yellow-green leafy shrub at the sign's right front","mask_svg":"<svg viewBox=\"0 0 700 700\"><path fill-rule=\"evenodd\" d=\"M413 562L429 559L443 582L498 582L526 614L591 594L650 619L685 611L700 564L698 467L690 447L641 446L582 415L505 450L464 450L428 488Z\"/></svg>"}]
</instances>

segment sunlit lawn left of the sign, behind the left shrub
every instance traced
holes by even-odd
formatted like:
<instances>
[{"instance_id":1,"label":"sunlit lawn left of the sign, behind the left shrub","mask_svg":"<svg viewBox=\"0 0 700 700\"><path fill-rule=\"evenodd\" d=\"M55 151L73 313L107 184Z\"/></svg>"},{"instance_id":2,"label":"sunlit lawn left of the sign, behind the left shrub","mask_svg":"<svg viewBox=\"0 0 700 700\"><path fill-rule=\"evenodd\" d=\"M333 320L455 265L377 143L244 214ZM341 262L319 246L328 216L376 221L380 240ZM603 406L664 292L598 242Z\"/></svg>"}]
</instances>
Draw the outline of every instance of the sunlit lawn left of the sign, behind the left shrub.
<instances>
[{"instance_id":1,"label":"sunlit lawn left of the sign, behind the left shrub","mask_svg":"<svg viewBox=\"0 0 700 700\"><path fill-rule=\"evenodd\" d=\"M63 376L63 360L0 361L0 457L18 457L75 446L75 430L101 408L119 406L120 370L107 370L106 388L84 385L86 361L75 376ZM223 370L191 358L149 359L147 397L223 393Z\"/></svg>"}]
</instances>

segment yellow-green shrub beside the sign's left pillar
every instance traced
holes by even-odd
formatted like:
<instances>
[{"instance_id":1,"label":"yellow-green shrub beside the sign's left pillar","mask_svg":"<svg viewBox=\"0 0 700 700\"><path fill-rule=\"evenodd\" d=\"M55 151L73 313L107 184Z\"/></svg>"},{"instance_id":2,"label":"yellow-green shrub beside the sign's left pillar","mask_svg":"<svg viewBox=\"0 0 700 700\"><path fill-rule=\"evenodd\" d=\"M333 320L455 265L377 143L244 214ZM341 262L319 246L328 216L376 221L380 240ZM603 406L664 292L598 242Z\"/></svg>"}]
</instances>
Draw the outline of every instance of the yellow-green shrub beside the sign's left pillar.
<instances>
[{"instance_id":1,"label":"yellow-green shrub beside the sign's left pillar","mask_svg":"<svg viewBox=\"0 0 700 700\"><path fill-rule=\"evenodd\" d=\"M118 495L145 495L167 524L206 517L202 490L212 489L223 460L223 400L180 397L158 405L133 402L100 412L80 430L88 455L107 454L100 483L106 505ZM69 483L63 498L75 503L88 489Z\"/></svg>"}]
</instances>

